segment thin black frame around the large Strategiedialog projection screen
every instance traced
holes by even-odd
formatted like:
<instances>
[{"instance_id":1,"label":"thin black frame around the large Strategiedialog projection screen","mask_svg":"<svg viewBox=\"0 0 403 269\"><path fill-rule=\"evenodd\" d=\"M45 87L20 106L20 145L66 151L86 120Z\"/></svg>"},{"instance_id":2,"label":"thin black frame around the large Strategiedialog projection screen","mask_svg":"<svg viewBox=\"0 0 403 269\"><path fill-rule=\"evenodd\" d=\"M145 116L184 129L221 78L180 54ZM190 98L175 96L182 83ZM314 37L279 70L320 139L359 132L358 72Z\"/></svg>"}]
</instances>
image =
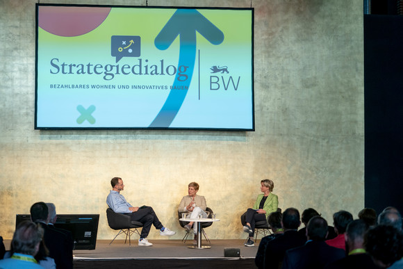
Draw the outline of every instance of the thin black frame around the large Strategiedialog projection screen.
<instances>
[{"instance_id":1,"label":"thin black frame around the large Strategiedialog projection screen","mask_svg":"<svg viewBox=\"0 0 403 269\"><path fill-rule=\"evenodd\" d=\"M74 7L106 7L106 8L163 8L163 9L197 9L197 10L250 10L251 11L251 99L252 99L252 127L251 128L200 128L200 127L38 127L38 11L40 6L74 6ZM183 6L118 6L118 5L88 5L88 4L58 4L35 3L35 130L190 130L190 131L255 131L254 115L254 8L228 7L183 7Z\"/></svg>"}]
</instances>

